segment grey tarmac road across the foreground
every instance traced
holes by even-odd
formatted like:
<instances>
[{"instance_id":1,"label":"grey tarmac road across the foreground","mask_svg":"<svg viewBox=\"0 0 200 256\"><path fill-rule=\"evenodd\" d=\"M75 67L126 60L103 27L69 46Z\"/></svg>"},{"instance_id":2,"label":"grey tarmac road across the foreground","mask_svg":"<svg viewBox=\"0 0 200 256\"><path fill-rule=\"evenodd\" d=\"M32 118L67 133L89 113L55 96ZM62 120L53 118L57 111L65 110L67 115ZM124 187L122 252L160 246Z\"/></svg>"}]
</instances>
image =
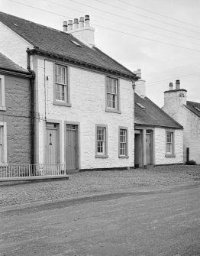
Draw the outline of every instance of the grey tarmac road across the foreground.
<instances>
[{"instance_id":1,"label":"grey tarmac road across the foreground","mask_svg":"<svg viewBox=\"0 0 200 256\"><path fill-rule=\"evenodd\" d=\"M200 255L200 186L0 211L0 255Z\"/></svg>"}]
</instances>

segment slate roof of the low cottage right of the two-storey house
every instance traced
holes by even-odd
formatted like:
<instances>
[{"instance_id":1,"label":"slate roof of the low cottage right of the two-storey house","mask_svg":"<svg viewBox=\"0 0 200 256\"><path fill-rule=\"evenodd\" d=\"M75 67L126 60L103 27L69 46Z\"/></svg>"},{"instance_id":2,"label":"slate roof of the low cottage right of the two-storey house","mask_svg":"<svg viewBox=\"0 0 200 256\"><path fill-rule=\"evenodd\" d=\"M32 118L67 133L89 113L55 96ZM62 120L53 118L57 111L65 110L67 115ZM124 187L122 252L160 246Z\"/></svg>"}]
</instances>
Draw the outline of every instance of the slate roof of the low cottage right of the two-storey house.
<instances>
[{"instance_id":1,"label":"slate roof of the low cottage right of the two-storey house","mask_svg":"<svg viewBox=\"0 0 200 256\"><path fill-rule=\"evenodd\" d=\"M139 105L143 105L142 109ZM134 93L134 123L135 125L147 125L163 128L182 128L173 118L166 114L159 106L147 97L140 97Z\"/></svg>"}]
</instances>

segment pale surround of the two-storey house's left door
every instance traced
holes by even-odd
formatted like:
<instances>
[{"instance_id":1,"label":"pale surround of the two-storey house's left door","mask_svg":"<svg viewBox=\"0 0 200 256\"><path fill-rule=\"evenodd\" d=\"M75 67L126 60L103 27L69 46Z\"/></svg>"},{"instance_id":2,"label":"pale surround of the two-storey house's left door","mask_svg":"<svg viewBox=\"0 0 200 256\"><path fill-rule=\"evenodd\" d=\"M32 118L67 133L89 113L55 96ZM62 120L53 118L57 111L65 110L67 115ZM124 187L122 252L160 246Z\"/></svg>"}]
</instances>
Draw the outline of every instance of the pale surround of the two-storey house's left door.
<instances>
[{"instance_id":1,"label":"pale surround of the two-storey house's left door","mask_svg":"<svg viewBox=\"0 0 200 256\"><path fill-rule=\"evenodd\" d=\"M58 136L58 146L57 146L57 154L58 154L58 164L62 164L62 151L61 151L61 131L62 131L62 122L60 120L47 119L44 121L44 163L47 162L47 152L46 152L46 144L47 144L47 123L56 124L57 127L57 136Z\"/></svg>"}]
</instances>

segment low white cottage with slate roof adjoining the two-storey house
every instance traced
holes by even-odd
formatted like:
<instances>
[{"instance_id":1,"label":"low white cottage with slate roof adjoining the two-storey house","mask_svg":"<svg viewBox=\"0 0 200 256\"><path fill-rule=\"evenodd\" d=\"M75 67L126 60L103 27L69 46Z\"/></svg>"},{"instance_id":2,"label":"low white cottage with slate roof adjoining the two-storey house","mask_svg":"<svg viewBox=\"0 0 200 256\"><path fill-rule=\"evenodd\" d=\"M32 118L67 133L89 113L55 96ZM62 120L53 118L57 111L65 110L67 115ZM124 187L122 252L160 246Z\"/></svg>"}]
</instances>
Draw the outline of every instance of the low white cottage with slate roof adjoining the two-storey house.
<instances>
[{"instance_id":1,"label":"low white cottage with slate roof adjoining the two-storey house","mask_svg":"<svg viewBox=\"0 0 200 256\"><path fill-rule=\"evenodd\" d=\"M143 79L136 82L134 105L135 167L182 164L182 125L146 96Z\"/></svg>"}]
</instances>

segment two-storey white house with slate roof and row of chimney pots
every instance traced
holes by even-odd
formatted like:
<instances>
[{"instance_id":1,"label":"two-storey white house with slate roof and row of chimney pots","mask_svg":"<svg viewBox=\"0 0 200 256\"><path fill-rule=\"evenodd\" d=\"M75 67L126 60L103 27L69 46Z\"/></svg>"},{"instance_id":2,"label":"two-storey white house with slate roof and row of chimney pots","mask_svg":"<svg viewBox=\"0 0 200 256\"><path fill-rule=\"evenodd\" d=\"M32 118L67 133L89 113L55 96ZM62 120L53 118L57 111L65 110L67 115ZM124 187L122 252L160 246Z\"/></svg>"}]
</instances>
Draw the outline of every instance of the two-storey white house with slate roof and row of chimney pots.
<instances>
[{"instance_id":1,"label":"two-storey white house with slate roof and row of chimney pots","mask_svg":"<svg viewBox=\"0 0 200 256\"><path fill-rule=\"evenodd\" d=\"M35 163L134 167L137 76L94 46L89 16L72 22L56 31L0 13L0 50L35 74Z\"/></svg>"}]
</instances>

